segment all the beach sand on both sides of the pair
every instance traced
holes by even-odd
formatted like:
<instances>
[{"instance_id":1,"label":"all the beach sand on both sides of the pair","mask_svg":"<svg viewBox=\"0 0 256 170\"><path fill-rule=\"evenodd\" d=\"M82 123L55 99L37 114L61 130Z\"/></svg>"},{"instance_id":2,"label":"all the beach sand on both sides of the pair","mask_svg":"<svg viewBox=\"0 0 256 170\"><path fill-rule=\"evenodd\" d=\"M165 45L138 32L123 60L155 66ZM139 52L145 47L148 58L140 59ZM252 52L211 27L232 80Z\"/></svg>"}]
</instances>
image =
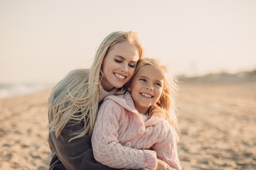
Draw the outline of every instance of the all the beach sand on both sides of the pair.
<instances>
[{"instance_id":1,"label":"all the beach sand on both sides of the pair","mask_svg":"<svg viewBox=\"0 0 256 170\"><path fill-rule=\"evenodd\" d=\"M47 169L50 91L0 100L0 169ZM181 84L183 170L256 169L256 84Z\"/></svg>"}]
</instances>

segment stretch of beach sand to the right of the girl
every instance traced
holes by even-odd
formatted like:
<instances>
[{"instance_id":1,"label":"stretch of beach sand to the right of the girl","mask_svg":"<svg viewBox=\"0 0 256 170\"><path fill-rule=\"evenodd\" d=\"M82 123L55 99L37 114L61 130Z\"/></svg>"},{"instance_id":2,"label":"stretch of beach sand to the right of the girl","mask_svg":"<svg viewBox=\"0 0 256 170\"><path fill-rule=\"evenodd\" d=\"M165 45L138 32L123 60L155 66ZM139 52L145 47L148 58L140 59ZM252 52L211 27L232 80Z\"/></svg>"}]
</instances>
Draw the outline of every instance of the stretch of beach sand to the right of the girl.
<instances>
[{"instance_id":1,"label":"stretch of beach sand to the right of the girl","mask_svg":"<svg viewBox=\"0 0 256 170\"><path fill-rule=\"evenodd\" d=\"M178 109L183 169L256 169L256 84L186 84Z\"/></svg>"}]
</instances>

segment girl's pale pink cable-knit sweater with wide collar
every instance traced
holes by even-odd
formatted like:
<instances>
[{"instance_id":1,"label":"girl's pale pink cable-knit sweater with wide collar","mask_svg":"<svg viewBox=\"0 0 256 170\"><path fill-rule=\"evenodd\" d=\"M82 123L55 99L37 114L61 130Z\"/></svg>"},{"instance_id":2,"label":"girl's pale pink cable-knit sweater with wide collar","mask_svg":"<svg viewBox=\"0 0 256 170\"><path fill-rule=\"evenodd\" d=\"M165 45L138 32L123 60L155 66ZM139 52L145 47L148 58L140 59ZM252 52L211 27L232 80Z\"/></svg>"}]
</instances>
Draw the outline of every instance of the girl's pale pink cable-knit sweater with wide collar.
<instances>
[{"instance_id":1,"label":"girl's pale pink cable-knit sweater with wide collar","mask_svg":"<svg viewBox=\"0 0 256 170\"><path fill-rule=\"evenodd\" d=\"M161 116L152 115L144 123L129 93L103 101L92 150L98 162L116 169L156 169L157 158L181 169L174 129Z\"/></svg>"}]
</instances>

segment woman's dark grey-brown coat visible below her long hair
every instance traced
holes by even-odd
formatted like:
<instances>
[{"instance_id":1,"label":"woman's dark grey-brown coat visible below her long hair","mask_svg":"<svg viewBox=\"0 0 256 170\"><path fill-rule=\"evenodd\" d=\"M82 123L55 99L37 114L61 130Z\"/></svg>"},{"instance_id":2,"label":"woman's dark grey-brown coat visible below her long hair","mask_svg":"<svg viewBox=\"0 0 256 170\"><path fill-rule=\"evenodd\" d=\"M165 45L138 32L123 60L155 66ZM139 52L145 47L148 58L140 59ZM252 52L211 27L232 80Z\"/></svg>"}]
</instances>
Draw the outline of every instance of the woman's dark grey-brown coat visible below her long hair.
<instances>
[{"instance_id":1,"label":"woman's dark grey-brown coat visible below her long hair","mask_svg":"<svg viewBox=\"0 0 256 170\"><path fill-rule=\"evenodd\" d=\"M89 135L68 142L71 138L70 134L78 132L81 128L82 123L75 125L68 123L58 138L55 137L54 132L49 133L48 142L53 152L50 169L113 170L95 161L92 154L91 137Z\"/></svg>"}]
</instances>

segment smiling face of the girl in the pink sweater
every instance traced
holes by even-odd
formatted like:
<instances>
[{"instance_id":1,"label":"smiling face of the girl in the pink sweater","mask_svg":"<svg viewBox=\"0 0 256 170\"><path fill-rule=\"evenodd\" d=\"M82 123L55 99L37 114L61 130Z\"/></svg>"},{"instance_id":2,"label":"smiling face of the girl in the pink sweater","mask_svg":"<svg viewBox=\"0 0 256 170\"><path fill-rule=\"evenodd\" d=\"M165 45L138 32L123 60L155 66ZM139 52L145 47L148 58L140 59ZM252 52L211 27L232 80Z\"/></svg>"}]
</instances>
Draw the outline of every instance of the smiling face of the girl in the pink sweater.
<instances>
[{"instance_id":1,"label":"smiling face of the girl in the pink sweater","mask_svg":"<svg viewBox=\"0 0 256 170\"><path fill-rule=\"evenodd\" d=\"M149 107L159 101L163 86L164 74L160 69L146 65L138 70L128 90L139 113L146 114Z\"/></svg>"}]
</instances>

